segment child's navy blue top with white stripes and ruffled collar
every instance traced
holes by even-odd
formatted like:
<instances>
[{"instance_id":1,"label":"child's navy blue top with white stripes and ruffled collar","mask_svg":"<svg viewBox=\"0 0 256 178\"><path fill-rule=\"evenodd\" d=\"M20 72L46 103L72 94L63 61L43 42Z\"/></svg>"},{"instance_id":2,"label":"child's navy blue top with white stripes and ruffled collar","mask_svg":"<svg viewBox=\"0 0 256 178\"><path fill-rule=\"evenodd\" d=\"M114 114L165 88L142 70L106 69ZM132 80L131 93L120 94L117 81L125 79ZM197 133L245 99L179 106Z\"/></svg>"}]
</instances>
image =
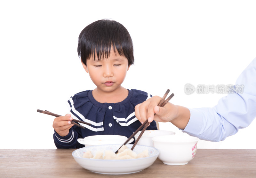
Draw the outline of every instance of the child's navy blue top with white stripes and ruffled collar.
<instances>
[{"instance_id":1,"label":"child's navy blue top with white stripes and ruffled collar","mask_svg":"<svg viewBox=\"0 0 256 178\"><path fill-rule=\"evenodd\" d=\"M68 100L70 114L74 119L91 123L82 129L74 125L67 136L61 137L54 131L53 139L57 148L81 148L77 138L84 138L92 135L123 135L130 137L137 130L141 123L135 117L134 108L152 95L140 91L129 90L127 98L119 103L100 103L92 96L92 90L86 90L75 94ZM150 123L147 130L157 130L156 122Z\"/></svg>"}]
</instances>

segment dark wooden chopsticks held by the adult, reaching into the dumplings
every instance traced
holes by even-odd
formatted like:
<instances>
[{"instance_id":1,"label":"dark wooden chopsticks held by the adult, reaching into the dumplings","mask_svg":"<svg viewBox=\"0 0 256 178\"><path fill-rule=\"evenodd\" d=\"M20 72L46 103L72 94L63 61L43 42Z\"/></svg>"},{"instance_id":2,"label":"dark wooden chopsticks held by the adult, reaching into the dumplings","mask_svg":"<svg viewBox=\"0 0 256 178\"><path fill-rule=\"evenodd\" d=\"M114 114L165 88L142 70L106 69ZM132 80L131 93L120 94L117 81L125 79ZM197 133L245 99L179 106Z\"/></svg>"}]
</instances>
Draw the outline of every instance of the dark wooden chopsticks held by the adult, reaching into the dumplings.
<instances>
[{"instance_id":1,"label":"dark wooden chopsticks held by the adult, reaching into the dumplings","mask_svg":"<svg viewBox=\"0 0 256 178\"><path fill-rule=\"evenodd\" d=\"M164 93L163 98L159 101L159 103L158 103L157 106L164 107L164 105L165 105L166 103L168 103L168 102L172 99L172 97L174 96L173 93L165 100L165 98L166 98L166 96L168 95L169 92L170 92L170 90L168 89L168 90ZM155 114L155 115L156 115L156 114ZM143 129L142 129L142 127L143 127ZM134 136L142 129L142 130L141 130L141 133L140 133L140 135L139 135L139 137L136 139L135 143L133 144L133 146L132 146L132 148L131 148L131 150L133 150L133 148L137 145L137 143L138 143L140 137L142 136L142 134L144 133L144 131L147 129L147 127L148 127L148 120L146 120L145 122L143 122L143 124L141 124L141 126L124 142L123 145L127 144L127 143L132 139L132 137L134 137ZM122 146L123 146L123 145L122 145ZM117 153L118 150L119 150L122 146L120 146L120 147L116 150L115 153Z\"/></svg>"}]
</instances>

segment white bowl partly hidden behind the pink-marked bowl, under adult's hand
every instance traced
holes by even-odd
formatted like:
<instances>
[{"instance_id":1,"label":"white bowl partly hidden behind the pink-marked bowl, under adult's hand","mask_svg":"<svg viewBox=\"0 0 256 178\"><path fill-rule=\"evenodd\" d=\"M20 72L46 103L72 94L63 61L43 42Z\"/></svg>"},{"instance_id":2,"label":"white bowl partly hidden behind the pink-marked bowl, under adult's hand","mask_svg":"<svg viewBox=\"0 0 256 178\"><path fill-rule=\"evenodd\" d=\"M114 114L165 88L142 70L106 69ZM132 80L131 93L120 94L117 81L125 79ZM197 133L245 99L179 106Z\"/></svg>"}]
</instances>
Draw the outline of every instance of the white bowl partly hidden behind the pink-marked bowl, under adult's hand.
<instances>
[{"instance_id":1,"label":"white bowl partly hidden behind the pink-marked bowl, under adult's hand","mask_svg":"<svg viewBox=\"0 0 256 178\"><path fill-rule=\"evenodd\" d=\"M135 136L135 140L139 137L141 131L139 131ZM154 147L153 141L151 138L162 135L175 135L175 132L167 131L167 130L145 130L140 140L138 141L138 145L146 145Z\"/></svg>"}]
</instances>

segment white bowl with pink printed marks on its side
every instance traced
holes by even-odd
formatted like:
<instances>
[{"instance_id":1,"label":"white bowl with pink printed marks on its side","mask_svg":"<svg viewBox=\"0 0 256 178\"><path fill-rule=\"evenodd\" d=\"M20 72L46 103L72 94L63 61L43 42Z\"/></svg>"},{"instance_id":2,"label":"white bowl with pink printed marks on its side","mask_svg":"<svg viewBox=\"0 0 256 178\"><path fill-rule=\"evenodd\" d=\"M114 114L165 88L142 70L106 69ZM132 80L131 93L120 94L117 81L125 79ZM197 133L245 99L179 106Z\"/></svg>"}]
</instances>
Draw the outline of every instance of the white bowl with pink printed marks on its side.
<instances>
[{"instance_id":1,"label":"white bowl with pink printed marks on its side","mask_svg":"<svg viewBox=\"0 0 256 178\"><path fill-rule=\"evenodd\" d=\"M196 155L199 138L182 135L165 135L152 138L160 151L158 158L168 165L184 165Z\"/></svg>"}]
</instances>

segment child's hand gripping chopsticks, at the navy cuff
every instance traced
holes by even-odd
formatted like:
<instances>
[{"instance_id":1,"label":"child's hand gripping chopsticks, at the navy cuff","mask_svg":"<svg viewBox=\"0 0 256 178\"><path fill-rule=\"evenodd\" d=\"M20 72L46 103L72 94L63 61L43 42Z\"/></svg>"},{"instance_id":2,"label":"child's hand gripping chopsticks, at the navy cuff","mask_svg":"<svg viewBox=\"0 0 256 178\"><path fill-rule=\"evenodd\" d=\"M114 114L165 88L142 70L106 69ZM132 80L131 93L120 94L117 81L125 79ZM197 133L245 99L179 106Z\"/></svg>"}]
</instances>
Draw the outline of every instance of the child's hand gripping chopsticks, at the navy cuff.
<instances>
[{"instance_id":1,"label":"child's hand gripping chopsticks, at the navy cuff","mask_svg":"<svg viewBox=\"0 0 256 178\"><path fill-rule=\"evenodd\" d=\"M73 118L70 114L66 114L65 116L56 117L53 120L52 127L53 129L61 136L65 137L69 133L69 129L74 125L71 124Z\"/></svg>"}]
</instances>

